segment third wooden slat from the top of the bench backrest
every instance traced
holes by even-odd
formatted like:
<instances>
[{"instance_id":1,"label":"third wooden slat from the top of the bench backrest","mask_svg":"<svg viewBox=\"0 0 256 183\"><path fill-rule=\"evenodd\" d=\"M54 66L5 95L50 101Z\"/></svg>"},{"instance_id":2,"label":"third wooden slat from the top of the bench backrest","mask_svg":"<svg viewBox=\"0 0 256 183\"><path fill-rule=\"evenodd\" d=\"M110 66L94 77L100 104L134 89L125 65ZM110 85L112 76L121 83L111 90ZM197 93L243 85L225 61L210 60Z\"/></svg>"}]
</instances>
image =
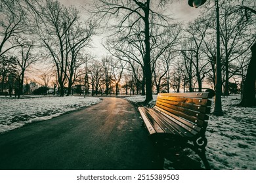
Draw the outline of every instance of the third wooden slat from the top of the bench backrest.
<instances>
[{"instance_id":1,"label":"third wooden slat from the top of the bench backrest","mask_svg":"<svg viewBox=\"0 0 256 183\"><path fill-rule=\"evenodd\" d=\"M200 106L200 105L192 105L190 103L181 103L181 102L178 102L178 101L169 101L169 100L161 99L161 98L162 97L159 97L158 101L163 102L163 103L167 103L169 105L176 105L176 106L179 106L179 107L190 108L191 110L196 110L198 112L203 112L205 114L210 114L210 112L211 112L210 107L203 107L203 106Z\"/></svg>"}]
</instances>

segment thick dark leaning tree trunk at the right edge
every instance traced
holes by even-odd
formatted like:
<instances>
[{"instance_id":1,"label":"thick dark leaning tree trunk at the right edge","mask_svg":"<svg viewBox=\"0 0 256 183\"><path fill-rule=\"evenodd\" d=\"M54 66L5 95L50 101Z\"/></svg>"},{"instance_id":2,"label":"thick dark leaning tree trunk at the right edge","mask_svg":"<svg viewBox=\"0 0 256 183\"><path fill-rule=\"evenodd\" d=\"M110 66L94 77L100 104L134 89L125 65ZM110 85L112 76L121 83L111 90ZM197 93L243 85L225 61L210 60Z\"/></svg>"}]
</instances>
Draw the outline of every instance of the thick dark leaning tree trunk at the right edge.
<instances>
[{"instance_id":1,"label":"thick dark leaning tree trunk at the right edge","mask_svg":"<svg viewBox=\"0 0 256 183\"><path fill-rule=\"evenodd\" d=\"M244 82L243 99L239 106L253 107L256 106L255 99L255 81L256 81L256 42L251 46L251 60L248 65L246 78Z\"/></svg>"}]
</instances>

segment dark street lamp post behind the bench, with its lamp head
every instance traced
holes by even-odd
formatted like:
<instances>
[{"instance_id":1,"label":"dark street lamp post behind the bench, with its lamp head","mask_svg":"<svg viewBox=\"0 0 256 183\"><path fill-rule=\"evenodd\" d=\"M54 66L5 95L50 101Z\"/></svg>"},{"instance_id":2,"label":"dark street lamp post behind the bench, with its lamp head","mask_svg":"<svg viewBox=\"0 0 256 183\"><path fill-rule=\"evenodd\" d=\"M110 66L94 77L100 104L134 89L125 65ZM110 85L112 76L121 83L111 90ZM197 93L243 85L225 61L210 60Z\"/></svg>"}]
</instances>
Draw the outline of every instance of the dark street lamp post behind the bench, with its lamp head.
<instances>
[{"instance_id":1,"label":"dark street lamp post behind the bench, with its lamp head","mask_svg":"<svg viewBox=\"0 0 256 183\"><path fill-rule=\"evenodd\" d=\"M190 7L198 8L203 5L206 0L189 0L188 5ZM215 77L215 107L213 114L215 116L223 116L223 110L221 108L221 52L220 52L220 30L219 30L219 1L215 0L216 6L216 37L217 37L217 49L216 49L216 77Z\"/></svg>"}]
</instances>

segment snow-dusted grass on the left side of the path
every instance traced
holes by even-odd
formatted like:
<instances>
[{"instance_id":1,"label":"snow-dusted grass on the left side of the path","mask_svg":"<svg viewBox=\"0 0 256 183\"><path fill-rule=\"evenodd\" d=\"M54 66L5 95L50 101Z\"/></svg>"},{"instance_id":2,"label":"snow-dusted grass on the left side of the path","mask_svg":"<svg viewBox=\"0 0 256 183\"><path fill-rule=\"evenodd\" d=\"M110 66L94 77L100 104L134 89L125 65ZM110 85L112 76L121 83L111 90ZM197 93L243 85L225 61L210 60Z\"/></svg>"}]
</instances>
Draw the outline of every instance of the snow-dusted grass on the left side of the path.
<instances>
[{"instance_id":1,"label":"snow-dusted grass on the left side of the path","mask_svg":"<svg viewBox=\"0 0 256 183\"><path fill-rule=\"evenodd\" d=\"M0 97L0 133L100 102L96 97Z\"/></svg>"}]
</instances>

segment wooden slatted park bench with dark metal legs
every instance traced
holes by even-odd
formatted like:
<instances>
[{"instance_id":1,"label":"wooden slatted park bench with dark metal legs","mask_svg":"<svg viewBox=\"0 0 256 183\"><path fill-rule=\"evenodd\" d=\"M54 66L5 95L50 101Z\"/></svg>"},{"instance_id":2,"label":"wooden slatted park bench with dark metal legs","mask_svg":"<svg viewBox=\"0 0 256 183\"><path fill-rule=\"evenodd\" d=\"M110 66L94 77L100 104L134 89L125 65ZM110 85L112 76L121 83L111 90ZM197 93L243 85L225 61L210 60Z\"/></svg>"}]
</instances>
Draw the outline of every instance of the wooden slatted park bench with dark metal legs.
<instances>
[{"instance_id":1,"label":"wooden slatted park bench with dark metal legs","mask_svg":"<svg viewBox=\"0 0 256 183\"><path fill-rule=\"evenodd\" d=\"M211 109L208 98L208 92L160 93L154 108L139 107L150 137L161 152L171 141L173 146L178 144L182 149L194 150L202 159L205 169L210 169L205 156L207 114Z\"/></svg>"}]
</instances>

